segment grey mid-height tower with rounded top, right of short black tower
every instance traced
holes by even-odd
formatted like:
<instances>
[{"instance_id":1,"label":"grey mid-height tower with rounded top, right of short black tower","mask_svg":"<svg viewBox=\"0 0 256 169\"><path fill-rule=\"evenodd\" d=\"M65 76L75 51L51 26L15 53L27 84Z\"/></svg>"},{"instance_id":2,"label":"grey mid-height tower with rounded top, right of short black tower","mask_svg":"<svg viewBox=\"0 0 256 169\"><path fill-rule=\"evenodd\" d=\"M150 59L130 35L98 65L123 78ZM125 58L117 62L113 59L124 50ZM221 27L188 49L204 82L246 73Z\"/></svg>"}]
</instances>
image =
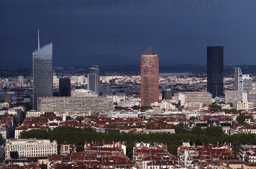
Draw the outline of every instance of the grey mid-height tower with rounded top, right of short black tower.
<instances>
[{"instance_id":1,"label":"grey mid-height tower with rounded top, right of short black tower","mask_svg":"<svg viewBox=\"0 0 256 169\"><path fill-rule=\"evenodd\" d=\"M87 89L93 91L99 96L99 67L90 66L87 69Z\"/></svg>"}]
</instances>

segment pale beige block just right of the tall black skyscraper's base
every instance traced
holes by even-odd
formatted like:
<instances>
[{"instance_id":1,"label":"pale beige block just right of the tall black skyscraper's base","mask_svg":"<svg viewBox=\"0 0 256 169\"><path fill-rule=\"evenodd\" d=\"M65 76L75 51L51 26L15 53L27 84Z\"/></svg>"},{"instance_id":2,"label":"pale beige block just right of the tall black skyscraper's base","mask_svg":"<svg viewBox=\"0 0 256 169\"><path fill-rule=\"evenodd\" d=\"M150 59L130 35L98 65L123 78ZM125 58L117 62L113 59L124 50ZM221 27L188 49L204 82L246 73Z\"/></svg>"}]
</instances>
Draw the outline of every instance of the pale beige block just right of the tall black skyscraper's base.
<instances>
[{"instance_id":1,"label":"pale beige block just right of the tall black skyscraper's base","mask_svg":"<svg viewBox=\"0 0 256 169\"><path fill-rule=\"evenodd\" d=\"M240 102L243 100L243 93L247 93L247 91L233 91L226 90L225 91L225 104Z\"/></svg>"}]
</instances>

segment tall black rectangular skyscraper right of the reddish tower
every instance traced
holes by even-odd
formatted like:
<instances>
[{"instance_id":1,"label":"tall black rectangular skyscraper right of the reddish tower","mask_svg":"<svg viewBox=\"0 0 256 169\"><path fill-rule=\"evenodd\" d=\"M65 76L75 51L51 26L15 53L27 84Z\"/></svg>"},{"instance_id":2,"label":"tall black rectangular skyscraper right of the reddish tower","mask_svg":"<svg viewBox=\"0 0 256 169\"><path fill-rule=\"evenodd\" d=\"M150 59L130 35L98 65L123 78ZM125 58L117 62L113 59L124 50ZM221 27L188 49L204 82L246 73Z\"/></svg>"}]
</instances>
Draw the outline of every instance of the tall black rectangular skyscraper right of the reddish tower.
<instances>
[{"instance_id":1,"label":"tall black rectangular skyscraper right of the reddish tower","mask_svg":"<svg viewBox=\"0 0 256 169\"><path fill-rule=\"evenodd\" d=\"M212 97L223 93L223 46L207 46L207 92Z\"/></svg>"}]
</instances>

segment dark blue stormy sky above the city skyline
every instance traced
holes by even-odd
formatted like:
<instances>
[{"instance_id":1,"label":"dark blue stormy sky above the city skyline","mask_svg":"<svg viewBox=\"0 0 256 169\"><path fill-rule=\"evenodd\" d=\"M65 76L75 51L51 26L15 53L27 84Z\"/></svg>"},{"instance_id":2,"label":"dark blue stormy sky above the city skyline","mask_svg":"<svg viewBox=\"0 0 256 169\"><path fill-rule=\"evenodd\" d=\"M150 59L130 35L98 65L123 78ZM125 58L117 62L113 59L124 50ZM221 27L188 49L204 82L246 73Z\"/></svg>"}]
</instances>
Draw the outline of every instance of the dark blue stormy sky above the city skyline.
<instances>
[{"instance_id":1,"label":"dark blue stormy sky above the city skyline","mask_svg":"<svg viewBox=\"0 0 256 169\"><path fill-rule=\"evenodd\" d=\"M53 41L55 67L138 65L149 45L160 65L206 65L212 45L224 46L225 65L256 63L255 0L0 0L0 5L0 68L32 67L38 28L41 46Z\"/></svg>"}]
</instances>

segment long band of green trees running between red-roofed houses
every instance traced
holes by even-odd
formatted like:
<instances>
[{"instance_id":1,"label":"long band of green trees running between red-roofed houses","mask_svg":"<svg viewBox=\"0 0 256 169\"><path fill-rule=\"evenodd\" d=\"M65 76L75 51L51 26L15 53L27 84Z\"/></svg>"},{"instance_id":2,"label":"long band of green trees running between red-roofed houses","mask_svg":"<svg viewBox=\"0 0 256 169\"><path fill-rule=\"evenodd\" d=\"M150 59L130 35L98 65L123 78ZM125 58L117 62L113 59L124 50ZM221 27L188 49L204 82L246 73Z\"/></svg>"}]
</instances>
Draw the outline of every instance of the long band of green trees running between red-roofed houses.
<instances>
[{"instance_id":1,"label":"long band of green trees running between red-roofed houses","mask_svg":"<svg viewBox=\"0 0 256 169\"><path fill-rule=\"evenodd\" d=\"M158 124L161 124L160 122ZM162 123L164 124L164 123ZM193 127L190 131L182 127L182 124L172 125L175 128L175 134L159 132L159 133L126 133L126 132L96 132L95 129L75 128L75 127L56 127L54 129L36 129L23 131L20 133L20 138L38 138L56 140L59 144L67 141L71 144L76 144L78 151L83 151L84 142L90 141L122 141L125 142L127 148L127 155L132 157L132 149L135 143L163 143L169 152L177 155L177 145L181 144L183 140L189 140L190 144L215 144L220 143L232 144L237 147L241 144L256 144L256 134L239 133L234 135L224 134L221 127L210 126L205 129L201 127ZM234 149L237 149L235 148Z\"/></svg>"}]
</instances>

